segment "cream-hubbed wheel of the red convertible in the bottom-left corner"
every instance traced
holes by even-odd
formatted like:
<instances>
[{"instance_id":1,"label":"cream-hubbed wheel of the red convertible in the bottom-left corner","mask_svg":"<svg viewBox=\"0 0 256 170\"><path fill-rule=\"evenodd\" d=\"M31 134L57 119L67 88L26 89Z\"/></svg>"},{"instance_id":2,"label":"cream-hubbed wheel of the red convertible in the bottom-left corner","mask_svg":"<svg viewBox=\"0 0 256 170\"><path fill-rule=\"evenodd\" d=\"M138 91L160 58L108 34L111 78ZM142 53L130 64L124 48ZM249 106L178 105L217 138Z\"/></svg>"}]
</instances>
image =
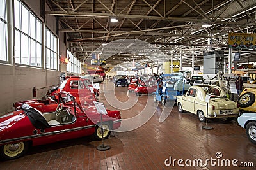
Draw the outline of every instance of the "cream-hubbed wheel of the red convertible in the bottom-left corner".
<instances>
[{"instance_id":1,"label":"cream-hubbed wheel of the red convertible in the bottom-left corner","mask_svg":"<svg viewBox=\"0 0 256 170\"><path fill-rule=\"evenodd\" d=\"M29 149L29 142L8 143L0 147L0 157L5 160L22 157Z\"/></svg>"}]
</instances>

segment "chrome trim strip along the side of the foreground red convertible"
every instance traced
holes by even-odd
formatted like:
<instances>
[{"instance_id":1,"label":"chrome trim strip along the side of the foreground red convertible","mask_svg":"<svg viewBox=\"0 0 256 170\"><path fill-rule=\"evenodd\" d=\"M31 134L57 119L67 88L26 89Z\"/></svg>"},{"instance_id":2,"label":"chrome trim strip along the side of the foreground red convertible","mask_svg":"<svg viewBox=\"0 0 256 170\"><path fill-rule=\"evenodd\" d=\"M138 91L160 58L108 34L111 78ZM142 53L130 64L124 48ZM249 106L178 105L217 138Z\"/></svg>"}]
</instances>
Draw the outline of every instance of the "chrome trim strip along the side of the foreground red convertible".
<instances>
[{"instance_id":1,"label":"chrome trim strip along the side of the foreground red convertible","mask_svg":"<svg viewBox=\"0 0 256 170\"><path fill-rule=\"evenodd\" d=\"M83 126L83 127L76 127L73 129L65 129L65 130L60 130L60 131L54 131L54 132L47 132L47 133L42 133L42 134L35 134L35 135L30 135L30 136L23 136L23 137L19 137L19 138L13 138L13 139L6 139L6 140L1 140L0 143L10 143L10 142L14 142L14 141L20 141L20 140L24 140L24 139L33 139L33 138L39 138L42 136L49 136L49 135L53 135L53 134L61 134L61 133L66 133L66 132L72 132L72 131L79 131L79 130L83 130L83 129L88 129L88 128L92 128L95 127L96 125L88 125L88 126Z\"/></svg>"}]
</instances>

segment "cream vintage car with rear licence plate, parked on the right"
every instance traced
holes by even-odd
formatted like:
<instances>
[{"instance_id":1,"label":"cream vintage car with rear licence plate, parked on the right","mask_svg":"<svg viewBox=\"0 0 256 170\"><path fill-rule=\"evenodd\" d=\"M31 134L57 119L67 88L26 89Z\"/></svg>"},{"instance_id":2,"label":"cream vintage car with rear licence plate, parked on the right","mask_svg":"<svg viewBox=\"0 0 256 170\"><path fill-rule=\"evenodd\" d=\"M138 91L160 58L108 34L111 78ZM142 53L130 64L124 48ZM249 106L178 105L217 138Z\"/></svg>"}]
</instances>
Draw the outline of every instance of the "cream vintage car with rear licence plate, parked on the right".
<instances>
[{"instance_id":1,"label":"cream vintage car with rear licence plate, parked on the right","mask_svg":"<svg viewBox=\"0 0 256 170\"><path fill-rule=\"evenodd\" d=\"M239 115L239 104L230 101L225 92L216 85L191 86L183 96L177 96L179 112L184 110L198 115L201 122L207 117L205 97L211 94L208 104L208 118L234 118Z\"/></svg>"}]
</instances>

